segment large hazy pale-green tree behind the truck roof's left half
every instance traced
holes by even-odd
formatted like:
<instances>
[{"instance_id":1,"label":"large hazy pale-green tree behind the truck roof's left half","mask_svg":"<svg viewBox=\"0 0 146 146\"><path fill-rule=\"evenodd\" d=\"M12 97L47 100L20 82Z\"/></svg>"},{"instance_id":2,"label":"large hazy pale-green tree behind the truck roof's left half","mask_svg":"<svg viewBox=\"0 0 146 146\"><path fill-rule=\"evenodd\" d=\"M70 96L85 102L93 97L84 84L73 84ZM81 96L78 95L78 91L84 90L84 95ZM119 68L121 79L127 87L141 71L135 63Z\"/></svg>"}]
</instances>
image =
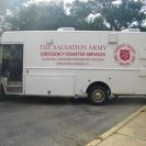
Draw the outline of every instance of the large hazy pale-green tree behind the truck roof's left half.
<instances>
[{"instance_id":1,"label":"large hazy pale-green tree behind the truck roof's left half","mask_svg":"<svg viewBox=\"0 0 146 146\"><path fill-rule=\"evenodd\" d=\"M11 30L56 30L67 26L64 2L55 1L23 5L7 18Z\"/></svg>"}]
</instances>

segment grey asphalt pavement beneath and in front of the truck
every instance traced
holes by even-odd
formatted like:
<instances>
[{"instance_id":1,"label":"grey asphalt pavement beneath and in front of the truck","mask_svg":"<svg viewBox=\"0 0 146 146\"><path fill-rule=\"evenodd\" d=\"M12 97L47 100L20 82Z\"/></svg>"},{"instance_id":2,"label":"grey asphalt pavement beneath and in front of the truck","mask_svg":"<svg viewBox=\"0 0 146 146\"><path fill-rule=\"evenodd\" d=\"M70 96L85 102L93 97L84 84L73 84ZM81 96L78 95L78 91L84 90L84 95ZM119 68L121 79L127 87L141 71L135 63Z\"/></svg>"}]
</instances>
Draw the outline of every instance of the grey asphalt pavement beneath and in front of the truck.
<instances>
[{"instance_id":1,"label":"grey asphalt pavement beneath and in front of the truck","mask_svg":"<svg viewBox=\"0 0 146 146\"><path fill-rule=\"evenodd\" d=\"M0 102L0 146L83 146L144 104L146 98L96 106L87 99L7 97Z\"/></svg>"}]
</instances>

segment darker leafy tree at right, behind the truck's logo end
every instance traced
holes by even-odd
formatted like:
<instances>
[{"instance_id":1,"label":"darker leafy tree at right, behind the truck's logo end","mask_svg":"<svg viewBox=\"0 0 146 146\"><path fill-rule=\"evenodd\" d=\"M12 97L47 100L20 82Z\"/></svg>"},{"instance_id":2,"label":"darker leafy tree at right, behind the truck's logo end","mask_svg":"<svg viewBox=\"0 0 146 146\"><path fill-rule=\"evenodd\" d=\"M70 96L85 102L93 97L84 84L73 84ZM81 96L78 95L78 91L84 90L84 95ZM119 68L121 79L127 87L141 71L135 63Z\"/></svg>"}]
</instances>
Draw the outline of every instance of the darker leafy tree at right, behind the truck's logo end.
<instances>
[{"instance_id":1,"label":"darker leafy tree at right, behind the truck's logo end","mask_svg":"<svg viewBox=\"0 0 146 146\"><path fill-rule=\"evenodd\" d=\"M110 30L123 30L143 25L146 19L144 0L90 0L92 12L100 13Z\"/></svg>"}]
</instances>

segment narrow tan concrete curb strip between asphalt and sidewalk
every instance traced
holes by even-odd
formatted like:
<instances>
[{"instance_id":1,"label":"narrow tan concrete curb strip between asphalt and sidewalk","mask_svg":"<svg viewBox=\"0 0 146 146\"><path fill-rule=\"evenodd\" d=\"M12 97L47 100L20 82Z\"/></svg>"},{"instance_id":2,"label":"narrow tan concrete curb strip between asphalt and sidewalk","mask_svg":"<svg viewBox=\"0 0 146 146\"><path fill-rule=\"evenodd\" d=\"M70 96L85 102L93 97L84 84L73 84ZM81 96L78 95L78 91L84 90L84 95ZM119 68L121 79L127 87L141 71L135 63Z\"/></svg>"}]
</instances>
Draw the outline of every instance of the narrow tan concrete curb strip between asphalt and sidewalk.
<instances>
[{"instance_id":1,"label":"narrow tan concrete curb strip between asphalt and sidewalk","mask_svg":"<svg viewBox=\"0 0 146 146\"><path fill-rule=\"evenodd\" d=\"M92 142L88 143L86 146L97 146L97 145L99 145L100 143L102 143L103 141L109 138L111 135L116 133L120 128L122 128L124 125L130 123L133 119L135 119L137 115L139 115L142 112L145 112L145 111L146 111L146 105L138 109L135 113L130 115L123 122L119 123L117 125L115 125L114 127L112 127L111 130L109 130L108 132L102 134L101 136L97 137L97 139L93 139Z\"/></svg>"}]
</instances>

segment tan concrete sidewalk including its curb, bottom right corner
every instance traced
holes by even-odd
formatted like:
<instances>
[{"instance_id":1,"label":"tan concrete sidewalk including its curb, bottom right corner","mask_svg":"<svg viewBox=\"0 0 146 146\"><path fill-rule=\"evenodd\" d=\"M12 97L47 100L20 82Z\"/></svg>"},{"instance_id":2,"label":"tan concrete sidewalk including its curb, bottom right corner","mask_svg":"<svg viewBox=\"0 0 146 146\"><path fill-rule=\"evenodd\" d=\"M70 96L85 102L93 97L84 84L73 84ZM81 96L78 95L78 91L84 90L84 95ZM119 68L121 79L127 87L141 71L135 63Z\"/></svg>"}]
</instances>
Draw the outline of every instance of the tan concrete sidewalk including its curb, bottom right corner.
<instances>
[{"instance_id":1,"label":"tan concrete sidewalk including its curb, bottom right corner","mask_svg":"<svg viewBox=\"0 0 146 146\"><path fill-rule=\"evenodd\" d=\"M146 105L87 146L146 146Z\"/></svg>"}]
</instances>

